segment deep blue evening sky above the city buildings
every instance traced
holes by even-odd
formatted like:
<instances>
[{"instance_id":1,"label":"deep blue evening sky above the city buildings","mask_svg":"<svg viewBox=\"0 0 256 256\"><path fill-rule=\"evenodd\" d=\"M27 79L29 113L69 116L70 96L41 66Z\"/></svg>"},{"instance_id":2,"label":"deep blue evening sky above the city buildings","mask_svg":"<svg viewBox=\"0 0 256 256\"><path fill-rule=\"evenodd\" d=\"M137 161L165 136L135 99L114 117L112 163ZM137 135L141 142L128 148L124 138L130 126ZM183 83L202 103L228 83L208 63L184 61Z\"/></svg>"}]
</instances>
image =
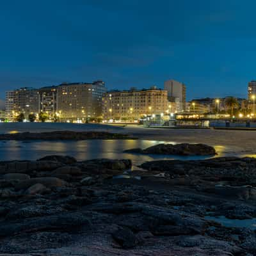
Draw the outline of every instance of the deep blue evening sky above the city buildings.
<instances>
[{"instance_id":1,"label":"deep blue evening sky above the city buildings","mask_svg":"<svg viewBox=\"0 0 256 256\"><path fill-rule=\"evenodd\" d=\"M182 81L188 99L246 97L256 79L250 0L12 0L0 6L0 98L22 86Z\"/></svg>"}]
</instances>

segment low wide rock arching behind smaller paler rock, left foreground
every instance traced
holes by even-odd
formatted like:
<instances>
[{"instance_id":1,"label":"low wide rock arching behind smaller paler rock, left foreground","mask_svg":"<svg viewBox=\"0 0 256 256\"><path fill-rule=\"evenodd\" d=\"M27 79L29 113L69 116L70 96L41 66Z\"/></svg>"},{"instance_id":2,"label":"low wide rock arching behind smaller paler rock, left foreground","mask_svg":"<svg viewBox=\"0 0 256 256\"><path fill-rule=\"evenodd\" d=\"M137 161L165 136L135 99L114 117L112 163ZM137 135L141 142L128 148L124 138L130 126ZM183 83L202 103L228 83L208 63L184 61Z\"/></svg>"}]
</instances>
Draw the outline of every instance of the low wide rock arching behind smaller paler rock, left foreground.
<instances>
[{"instance_id":1,"label":"low wide rock arching behind smaller paler rock, left foreground","mask_svg":"<svg viewBox=\"0 0 256 256\"><path fill-rule=\"evenodd\" d=\"M14 184L16 190L28 189L35 184L42 184L47 188L62 187L66 185L64 180L54 178L54 177L44 177L44 178L34 178L28 180L20 180Z\"/></svg>"}]
</instances>

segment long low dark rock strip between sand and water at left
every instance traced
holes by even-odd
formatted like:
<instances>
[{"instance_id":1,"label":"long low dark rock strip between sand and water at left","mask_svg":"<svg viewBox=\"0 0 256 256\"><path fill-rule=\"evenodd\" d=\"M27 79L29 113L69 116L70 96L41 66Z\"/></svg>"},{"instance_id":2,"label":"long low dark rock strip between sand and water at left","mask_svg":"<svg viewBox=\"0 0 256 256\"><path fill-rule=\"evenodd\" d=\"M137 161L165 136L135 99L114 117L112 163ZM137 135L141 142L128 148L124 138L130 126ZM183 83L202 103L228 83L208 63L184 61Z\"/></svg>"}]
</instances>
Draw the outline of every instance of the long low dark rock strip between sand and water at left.
<instances>
[{"instance_id":1,"label":"long low dark rock strip between sand and water at left","mask_svg":"<svg viewBox=\"0 0 256 256\"><path fill-rule=\"evenodd\" d=\"M74 131L52 131L52 132L22 132L14 134L0 134L0 140L134 140L136 138L129 134L111 132L74 132Z\"/></svg>"}]
</instances>

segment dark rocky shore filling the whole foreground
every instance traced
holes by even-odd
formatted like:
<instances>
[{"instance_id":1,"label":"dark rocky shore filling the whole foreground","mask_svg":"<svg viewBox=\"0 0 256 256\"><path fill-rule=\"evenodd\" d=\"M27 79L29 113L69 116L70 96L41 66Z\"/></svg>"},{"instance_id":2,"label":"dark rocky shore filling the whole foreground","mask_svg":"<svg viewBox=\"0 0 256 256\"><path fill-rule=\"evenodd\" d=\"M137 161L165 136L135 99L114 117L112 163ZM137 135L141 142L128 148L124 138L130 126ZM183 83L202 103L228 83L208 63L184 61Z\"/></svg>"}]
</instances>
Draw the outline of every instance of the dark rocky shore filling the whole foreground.
<instances>
[{"instance_id":1,"label":"dark rocky shore filling the whole foreground","mask_svg":"<svg viewBox=\"0 0 256 256\"><path fill-rule=\"evenodd\" d=\"M131 165L0 162L0 255L256 255L256 159Z\"/></svg>"}]
</instances>

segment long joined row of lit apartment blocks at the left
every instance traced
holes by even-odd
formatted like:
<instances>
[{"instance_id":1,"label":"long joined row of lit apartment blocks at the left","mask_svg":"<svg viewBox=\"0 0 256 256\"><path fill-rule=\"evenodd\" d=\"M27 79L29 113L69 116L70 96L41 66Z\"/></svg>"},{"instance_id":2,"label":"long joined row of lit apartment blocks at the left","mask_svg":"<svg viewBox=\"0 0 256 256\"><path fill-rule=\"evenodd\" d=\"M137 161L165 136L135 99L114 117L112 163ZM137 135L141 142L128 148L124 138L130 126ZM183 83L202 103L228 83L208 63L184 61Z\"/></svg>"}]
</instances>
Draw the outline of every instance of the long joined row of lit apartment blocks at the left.
<instances>
[{"instance_id":1,"label":"long joined row of lit apartment blocks at the left","mask_svg":"<svg viewBox=\"0 0 256 256\"><path fill-rule=\"evenodd\" d=\"M6 118L15 120L24 113L47 113L49 120L81 122L102 116L102 95L105 83L67 83L58 86L20 88L6 92Z\"/></svg>"}]
</instances>

